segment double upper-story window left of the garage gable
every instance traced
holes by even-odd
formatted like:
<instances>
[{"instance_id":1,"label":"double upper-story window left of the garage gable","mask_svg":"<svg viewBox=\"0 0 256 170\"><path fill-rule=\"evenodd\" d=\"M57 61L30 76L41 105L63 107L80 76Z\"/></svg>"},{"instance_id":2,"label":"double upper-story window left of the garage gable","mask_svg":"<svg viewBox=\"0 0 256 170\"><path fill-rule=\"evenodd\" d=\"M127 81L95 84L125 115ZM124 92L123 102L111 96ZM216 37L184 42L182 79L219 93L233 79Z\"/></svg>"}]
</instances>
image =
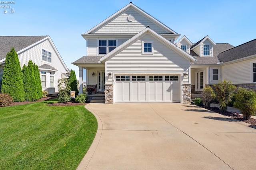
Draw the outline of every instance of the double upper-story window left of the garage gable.
<instances>
[{"instance_id":1,"label":"double upper-story window left of the garage gable","mask_svg":"<svg viewBox=\"0 0 256 170\"><path fill-rule=\"evenodd\" d=\"M99 54L107 54L116 48L116 39L100 39Z\"/></svg>"}]
</instances>

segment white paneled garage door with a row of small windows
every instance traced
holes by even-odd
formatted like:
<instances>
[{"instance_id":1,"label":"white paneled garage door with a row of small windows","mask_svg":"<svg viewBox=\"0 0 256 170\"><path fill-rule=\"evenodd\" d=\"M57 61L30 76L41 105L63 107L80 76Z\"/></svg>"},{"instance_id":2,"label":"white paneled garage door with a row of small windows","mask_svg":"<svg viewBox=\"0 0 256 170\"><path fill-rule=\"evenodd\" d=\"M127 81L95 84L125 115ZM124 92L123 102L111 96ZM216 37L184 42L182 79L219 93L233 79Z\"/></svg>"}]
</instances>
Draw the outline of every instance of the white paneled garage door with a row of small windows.
<instances>
[{"instance_id":1,"label":"white paneled garage door with a row of small windows","mask_svg":"<svg viewBox=\"0 0 256 170\"><path fill-rule=\"evenodd\" d=\"M117 75L115 102L180 102L178 75Z\"/></svg>"}]
</instances>

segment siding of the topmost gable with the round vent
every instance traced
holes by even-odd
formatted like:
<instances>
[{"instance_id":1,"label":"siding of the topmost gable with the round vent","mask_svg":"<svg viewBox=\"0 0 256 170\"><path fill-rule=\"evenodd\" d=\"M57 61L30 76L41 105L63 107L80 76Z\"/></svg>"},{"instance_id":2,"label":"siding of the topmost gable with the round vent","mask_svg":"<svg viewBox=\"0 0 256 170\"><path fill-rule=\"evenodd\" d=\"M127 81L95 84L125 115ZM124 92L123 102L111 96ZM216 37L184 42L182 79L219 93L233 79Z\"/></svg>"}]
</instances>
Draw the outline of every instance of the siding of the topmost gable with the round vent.
<instances>
[{"instance_id":1,"label":"siding of the topmost gable with the round vent","mask_svg":"<svg viewBox=\"0 0 256 170\"><path fill-rule=\"evenodd\" d=\"M134 16L134 21L128 21L127 17L129 15ZM100 27L96 31L92 33L129 33L129 34L136 34L145 29L147 26L150 26L151 29L156 31L157 33L170 33L167 30L161 28L160 26L156 25L156 23L150 21L148 18L143 16L142 14L136 12L132 8L126 10L120 16L114 18L113 20L109 21L103 27Z\"/></svg>"}]
</instances>

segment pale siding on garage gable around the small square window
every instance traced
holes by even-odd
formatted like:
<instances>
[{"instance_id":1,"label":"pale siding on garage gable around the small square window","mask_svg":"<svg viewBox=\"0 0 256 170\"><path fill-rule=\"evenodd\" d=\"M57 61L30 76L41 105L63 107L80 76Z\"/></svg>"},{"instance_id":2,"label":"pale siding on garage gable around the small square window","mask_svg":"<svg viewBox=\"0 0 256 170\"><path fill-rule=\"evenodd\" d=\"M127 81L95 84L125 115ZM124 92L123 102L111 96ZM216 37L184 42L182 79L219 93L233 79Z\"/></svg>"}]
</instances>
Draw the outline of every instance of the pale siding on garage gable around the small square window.
<instances>
[{"instance_id":1,"label":"pale siding on garage gable around the small square window","mask_svg":"<svg viewBox=\"0 0 256 170\"><path fill-rule=\"evenodd\" d=\"M142 41L153 41L154 54L142 54ZM181 74L188 71L187 59L150 35L134 42L106 62L106 72L118 74ZM108 80L108 83L111 81ZM188 83L184 78L183 83Z\"/></svg>"}]
</instances>

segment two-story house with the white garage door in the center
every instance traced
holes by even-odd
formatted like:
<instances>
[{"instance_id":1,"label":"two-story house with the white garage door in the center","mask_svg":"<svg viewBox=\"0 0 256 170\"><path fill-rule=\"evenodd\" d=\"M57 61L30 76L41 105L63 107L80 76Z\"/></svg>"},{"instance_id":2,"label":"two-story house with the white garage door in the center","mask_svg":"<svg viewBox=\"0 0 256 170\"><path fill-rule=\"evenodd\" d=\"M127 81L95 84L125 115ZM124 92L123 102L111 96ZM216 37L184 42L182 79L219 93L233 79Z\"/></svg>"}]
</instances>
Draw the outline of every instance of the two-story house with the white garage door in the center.
<instances>
[{"instance_id":1,"label":"two-story house with the white garage door in the center","mask_svg":"<svg viewBox=\"0 0 256 170\"><path fill-rule=\"evenodd\" d=\"M82 36L87 54L72 63L79 67L79 93L86 69L87 86L105 92L105 103L189 103L191 92L226 76L218 55L234 47L208 35L174 43L180 34L131 2Z\"/></svg>"}]
</instances>

